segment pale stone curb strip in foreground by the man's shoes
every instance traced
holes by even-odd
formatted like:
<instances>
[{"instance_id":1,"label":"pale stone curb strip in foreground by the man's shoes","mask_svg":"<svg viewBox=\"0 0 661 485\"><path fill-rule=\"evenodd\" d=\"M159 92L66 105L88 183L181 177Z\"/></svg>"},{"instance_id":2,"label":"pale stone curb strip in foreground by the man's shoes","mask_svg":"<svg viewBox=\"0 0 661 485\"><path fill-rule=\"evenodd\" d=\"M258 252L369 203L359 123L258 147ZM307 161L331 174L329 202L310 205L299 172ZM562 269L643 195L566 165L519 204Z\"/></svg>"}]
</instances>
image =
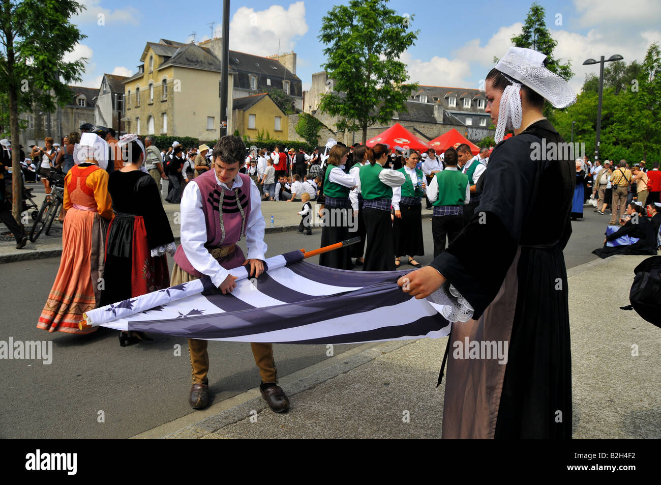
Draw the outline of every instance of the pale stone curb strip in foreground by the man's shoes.
<instances>
[{"instance_id":1,"label":"pale stone curb strip in foreground by the man's shoes","mask_svg":"<svg viewBox=\"0 0 661 485\"><path fill-rule=\"evenodd\" d=\"M364 347L369 348L364 348L362 351L354 353L352 352L354 349L352 349L343 352L336 357L331 357L331 359L328 359L327 361L322 361L285 376L280 379L280 386L284 392L292 398L292 396L295 396L304 390L313 388L322 382L369 363L370 361L373 361L373 359L379 357L379 355L400 349L401 347L415 341L416 340L395 340L384 342L376 346L373 346L373 343L366 343L364 346L359 347L359 349ZM237 402L237 404L217 414L186 425L176 431L160 434L158 428L161 426L159 426L150 431L146 431L145 433L140 433L139 435L132 437L132 439L204 439L207 435L210 435L227 425L250 418L268 408L266 402L264 402L260 396L258 387L247 390L238 396L234 396L228 401L230 400ZM293 400L292 406L294 409L295 405L295 400ZM167 426L167 423L162 426Z\"/></svg>"}]
</instances>

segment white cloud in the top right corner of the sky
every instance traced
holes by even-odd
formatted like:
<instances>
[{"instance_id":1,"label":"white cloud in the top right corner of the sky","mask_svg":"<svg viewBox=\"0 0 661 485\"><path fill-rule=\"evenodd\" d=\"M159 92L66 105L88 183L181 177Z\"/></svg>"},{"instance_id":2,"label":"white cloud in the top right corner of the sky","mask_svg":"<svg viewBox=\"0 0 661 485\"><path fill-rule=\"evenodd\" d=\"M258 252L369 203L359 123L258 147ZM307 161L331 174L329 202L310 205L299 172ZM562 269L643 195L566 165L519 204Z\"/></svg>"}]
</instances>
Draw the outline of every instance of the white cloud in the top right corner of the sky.
<instances>
[{"instance_id":1,"label":"white cloud in the top right corner of the sky","mask_svg":"<svg viewBox=\"0 0 661 485\"><path fill-rule=\"evenodd\" d=\"M644 28L661 23L661 2L658 0L574 0L578 24L582 27L623 26Z\"/></svg>"}]
</instances>

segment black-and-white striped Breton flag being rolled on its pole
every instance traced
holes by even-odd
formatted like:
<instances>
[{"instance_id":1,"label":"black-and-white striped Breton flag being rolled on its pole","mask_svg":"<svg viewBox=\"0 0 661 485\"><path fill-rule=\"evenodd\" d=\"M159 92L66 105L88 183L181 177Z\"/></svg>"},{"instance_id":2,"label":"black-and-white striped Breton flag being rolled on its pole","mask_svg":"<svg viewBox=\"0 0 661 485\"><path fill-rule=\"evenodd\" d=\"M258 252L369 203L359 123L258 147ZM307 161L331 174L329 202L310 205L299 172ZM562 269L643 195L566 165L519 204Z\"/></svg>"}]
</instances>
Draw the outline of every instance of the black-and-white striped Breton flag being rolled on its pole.
<instances>
[{"instance_id":1,"label":"black-and-white striped Breton flag being rolled on its pole","mask_svg":"<svg viewBox=\"0 0 661 485\"><path fill-rule=\"evenodd\" d=\"M449 320L457 320L452 312L461 304L447 292L422 300L403 292L397 279L407 271L332 269L304 257L301 251L270 257L258 278L233 269L237 287L228 294L205 276L91 310L87 324L194 339L327 344L444 337Z\"/></svg>"}]
</instances>

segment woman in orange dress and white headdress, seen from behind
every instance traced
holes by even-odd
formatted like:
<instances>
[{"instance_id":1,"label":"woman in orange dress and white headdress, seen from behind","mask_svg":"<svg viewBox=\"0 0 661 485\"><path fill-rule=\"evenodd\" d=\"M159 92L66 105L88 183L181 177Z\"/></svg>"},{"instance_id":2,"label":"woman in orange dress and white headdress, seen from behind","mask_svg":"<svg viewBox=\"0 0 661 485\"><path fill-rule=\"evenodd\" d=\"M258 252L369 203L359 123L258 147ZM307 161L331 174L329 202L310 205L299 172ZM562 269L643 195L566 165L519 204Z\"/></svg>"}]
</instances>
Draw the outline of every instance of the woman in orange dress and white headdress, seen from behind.
<instances>
[{"instance_id":1,"label":"woman in orange dress and white headdress, seen from behind","mask_svg":"<svg viewBox=\"0 0 661 485\"><path fill-rule=\"evenodd\" d=\"M104 246L113 216L108 173L104 169L108 163L106 147L96 134L84 133L74 157L77 165L64 179L67 215L62 231L62 257L37 328L67 333L91 333L98 329L79 330L78 322L83 320L84 312L97 307L104 286Z\"/></svg>"}]
</instances>

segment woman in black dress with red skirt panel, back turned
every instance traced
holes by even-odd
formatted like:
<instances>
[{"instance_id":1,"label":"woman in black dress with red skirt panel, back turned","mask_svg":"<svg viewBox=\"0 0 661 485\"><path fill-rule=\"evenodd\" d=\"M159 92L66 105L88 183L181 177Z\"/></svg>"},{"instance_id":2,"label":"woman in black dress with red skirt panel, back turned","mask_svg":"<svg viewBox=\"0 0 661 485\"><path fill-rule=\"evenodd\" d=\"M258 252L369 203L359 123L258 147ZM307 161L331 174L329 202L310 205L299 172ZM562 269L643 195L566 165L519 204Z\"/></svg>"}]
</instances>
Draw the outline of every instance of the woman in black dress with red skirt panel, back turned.
<instances>
[{"instance_id":1,"label":"woman in black dress with red skirt panel, back turned","mask_svg":"<svg viewBox=\"0 0 661 485\"><path fill-rule=\"evenodd\" d=\"M115 218L108 227L104 288L100 306L170 286L165 253L176 245L154 179L140 170L144 152L134 134L120 138L126 163L108 178ZM120 333L120 345L147 339L141 332Z\"/></svg>"}]
</instances>

